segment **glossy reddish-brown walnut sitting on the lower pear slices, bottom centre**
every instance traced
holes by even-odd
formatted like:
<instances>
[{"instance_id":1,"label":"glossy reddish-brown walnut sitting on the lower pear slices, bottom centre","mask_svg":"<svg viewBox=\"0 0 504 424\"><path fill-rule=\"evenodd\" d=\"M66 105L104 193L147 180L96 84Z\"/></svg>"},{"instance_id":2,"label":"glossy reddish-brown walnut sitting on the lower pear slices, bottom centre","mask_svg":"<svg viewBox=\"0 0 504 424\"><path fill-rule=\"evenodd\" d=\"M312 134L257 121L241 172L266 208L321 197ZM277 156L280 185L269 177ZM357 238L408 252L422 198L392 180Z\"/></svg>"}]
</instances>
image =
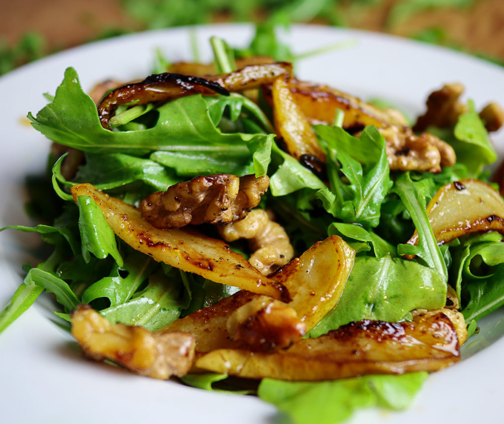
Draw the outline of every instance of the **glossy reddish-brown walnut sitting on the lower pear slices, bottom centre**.
<instances>
[{"instance_id":1,"label":"glossy reddish-brown walnut sitting on the lower pear slices, bottom centre","mask_svg":"<svg viewBox=\"0 0 504 424\"><path fill-rule=\"evenodd\" d=\"M226 329L232 340L253 350L288 347L305 333L296 311L268 296L258 296L234 311Z\"/></svg>"}]
</instances>

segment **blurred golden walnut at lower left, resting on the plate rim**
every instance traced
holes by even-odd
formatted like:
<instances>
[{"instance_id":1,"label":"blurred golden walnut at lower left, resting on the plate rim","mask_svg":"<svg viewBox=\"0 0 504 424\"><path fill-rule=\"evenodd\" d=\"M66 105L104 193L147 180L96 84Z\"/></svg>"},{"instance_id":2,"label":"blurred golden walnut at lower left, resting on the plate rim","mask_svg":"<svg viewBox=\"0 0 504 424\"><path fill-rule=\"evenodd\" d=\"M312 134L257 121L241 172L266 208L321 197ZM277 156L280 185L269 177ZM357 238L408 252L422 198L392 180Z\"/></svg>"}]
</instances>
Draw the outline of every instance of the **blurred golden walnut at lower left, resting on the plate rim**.
<instances>
[{"instance_id":1,"label":"blurred golden walnut at lower left, resting on the plate rim","mask_svg":"<svg viewBox=\"0 0 504 424\"><path fill-rule=\"evenodd\" d=\"M80 305L72 314L72 335L89 358L109 359L153 378L184 376L194 360L194 335L112 324L86 305Z\"/></svg>"}]
</instances>

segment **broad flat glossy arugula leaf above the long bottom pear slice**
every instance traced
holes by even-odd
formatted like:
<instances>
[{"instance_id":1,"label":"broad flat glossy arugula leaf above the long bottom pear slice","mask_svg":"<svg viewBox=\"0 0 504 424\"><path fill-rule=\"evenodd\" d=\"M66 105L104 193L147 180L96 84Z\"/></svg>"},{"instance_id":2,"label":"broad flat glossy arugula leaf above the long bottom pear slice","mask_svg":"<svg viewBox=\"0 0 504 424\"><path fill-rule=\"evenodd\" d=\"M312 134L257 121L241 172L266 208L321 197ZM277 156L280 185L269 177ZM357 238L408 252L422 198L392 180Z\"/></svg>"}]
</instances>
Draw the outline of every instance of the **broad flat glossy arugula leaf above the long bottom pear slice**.
<instances>
[{"instance_id":1,"label":"broad flat glossy arugula leaf above the long bottom pear slice","mask_svg":"<svg viewBox=\"0 0 504 424\"><path fill-rule=\"evenodd\" d=\"M359 256L336 307L311 329L317 337L362 319L397 322L413 309L441 308L446 281L427 266L386 255Z\"/></svg>"}]
</instances>

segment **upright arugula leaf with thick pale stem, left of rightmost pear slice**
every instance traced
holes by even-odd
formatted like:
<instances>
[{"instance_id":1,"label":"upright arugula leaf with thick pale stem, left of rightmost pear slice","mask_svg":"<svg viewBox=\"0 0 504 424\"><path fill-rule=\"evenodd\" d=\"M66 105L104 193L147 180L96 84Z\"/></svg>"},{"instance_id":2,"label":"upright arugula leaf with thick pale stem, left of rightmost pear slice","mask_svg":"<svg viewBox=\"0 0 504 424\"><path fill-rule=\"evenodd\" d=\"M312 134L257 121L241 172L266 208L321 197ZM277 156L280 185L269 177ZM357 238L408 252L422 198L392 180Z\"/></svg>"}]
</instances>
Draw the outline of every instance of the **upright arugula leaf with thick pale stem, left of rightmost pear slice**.
<instances>
[{"instance_id":1,"label":"upright arugula leaf with thick pale stem, left of rightmost pear slice","mask_svg":"<svg viewBox=\"0 0 504 424\"><path fill-rule=\"evenodd\" d=\"M401 198L418 232L418 245L401 244L398 246L398 253L400 255L418 255L428 266L443 276L445 281L448 280L447 266L439 246L437 246L425 209L425 198L430 195L428 181L413 182L409 172L406 172L395 180L392 191Z\"/></svg>"}]
</instances>

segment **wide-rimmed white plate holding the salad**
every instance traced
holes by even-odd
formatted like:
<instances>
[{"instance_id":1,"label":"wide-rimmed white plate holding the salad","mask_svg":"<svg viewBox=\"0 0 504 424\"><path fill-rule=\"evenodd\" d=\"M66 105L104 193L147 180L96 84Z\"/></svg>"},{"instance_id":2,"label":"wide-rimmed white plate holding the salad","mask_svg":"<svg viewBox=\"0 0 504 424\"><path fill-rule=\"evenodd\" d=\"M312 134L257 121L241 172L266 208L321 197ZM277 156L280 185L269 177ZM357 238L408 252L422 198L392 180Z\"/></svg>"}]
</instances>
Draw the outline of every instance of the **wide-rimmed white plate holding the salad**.
<instances>
[{"instance_id":1,"label":"wide-rimmed white plate holding the salad","mask_svg":"<svg viewBox=\"0 0 504 424\"><path fill-rule=\"evenodd\" d=\"M210 36L242 46L253 34L248 25L205 26L195 31L205 59L211 57L207 43ZM421 112L426 95L445 82L464 83L477 107L489 100L504 104L504 70L465 54L379 34L319 26L295 26L285 34L285 40L296 53L356 40L353 47L300 61L297 75L364 98L390 99L412 114ZM108 77L124 81L144 77L150 72L156 47L172 60L191 60L188 29L179 28L81 46L0 78L0 226L30 224L23 213L23 179L43 170L49 142L26 125L23 117L45 105L42 93L54 94L67 66L78 70L84 89ZM496 134L494 141L502 153L504 133ZM30 259L30 251L39 248L38 240L38 236L14 230L0 234L1 306L22 282L21 264ZM42 297L0 336L2 422L276 421L275 408L254 397L205 392L85 361L69 335L51 322L49 311ZM408 411L368 410L357 413L351 422L494 422L501 416L504 397L502 318L498 311L486 320L483 334L466 350L466 356L475 355L432 375Z\"/></svg>"}]
</instances>

